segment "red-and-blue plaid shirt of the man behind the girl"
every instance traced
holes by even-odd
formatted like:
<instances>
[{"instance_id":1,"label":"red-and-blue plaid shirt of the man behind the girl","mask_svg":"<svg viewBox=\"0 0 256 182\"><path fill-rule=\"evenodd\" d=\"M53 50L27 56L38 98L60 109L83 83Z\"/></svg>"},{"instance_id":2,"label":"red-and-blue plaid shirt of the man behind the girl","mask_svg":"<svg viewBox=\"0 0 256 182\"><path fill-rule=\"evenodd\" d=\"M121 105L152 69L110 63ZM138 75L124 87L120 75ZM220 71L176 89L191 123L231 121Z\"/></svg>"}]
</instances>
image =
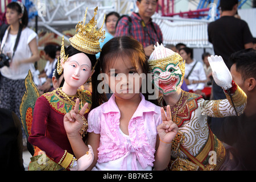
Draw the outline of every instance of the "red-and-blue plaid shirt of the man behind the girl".
<instances>
[{"instance_id":1,"label":"red-and-blue plaid shirt of the man behind the girl","mask_svg":"<svg viewBox=\"0 0 256 182\"><path fill-rule=\"evenodd\" d=\"M132 36L134 39L142 43L143 47L163 43L163 35L158 24L152 22L152 19L146 23L146 30L142 27L141 16L137 13L132 13L131 27L129 32L129 18L127 16L119 20L115 30L115 36Z\"/></svg>"}]
</instances>

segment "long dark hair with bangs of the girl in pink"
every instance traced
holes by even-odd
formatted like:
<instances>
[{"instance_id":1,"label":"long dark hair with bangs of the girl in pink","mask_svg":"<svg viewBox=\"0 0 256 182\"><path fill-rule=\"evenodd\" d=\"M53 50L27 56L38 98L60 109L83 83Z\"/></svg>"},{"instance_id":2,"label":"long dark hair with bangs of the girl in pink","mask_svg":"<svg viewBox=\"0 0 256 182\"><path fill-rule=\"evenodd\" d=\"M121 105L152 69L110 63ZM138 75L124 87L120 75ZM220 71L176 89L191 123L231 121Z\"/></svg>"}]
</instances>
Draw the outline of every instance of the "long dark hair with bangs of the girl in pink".
<instances>
[{"instance_id":1,"label":"long dark hair with bangs of the girl in pink","mask_svg":"<svg viewBox=\"0 0 256 182\"><path fill-rule=\"evenodd\" d=\"M94 78L96 78L96 80L93 80L92 78L93 98L96 98L96 100L93 101L92 109L94 109L97 106L100 106L103 102L106 101L105 94L98 93L97 86L98 84L100 84L102 80L97 80L97 75L101 71L102 73L106 73L106 71L111 67L111 64L113 64L114 60L116 60L118 57L125 56L130 58L131 62L134 65L134 68L136 68L137 63L141 66L142 72L146 75L147 84L147 74L150 72L148 69L148 62L142 44L129 36L115 37L109 40L102 47L98 64L94 73ZM145 99L148 100L148 92L142 94L145 96ZM148 101L156 104L156 100Z\"/></svg>"}]
</instances>

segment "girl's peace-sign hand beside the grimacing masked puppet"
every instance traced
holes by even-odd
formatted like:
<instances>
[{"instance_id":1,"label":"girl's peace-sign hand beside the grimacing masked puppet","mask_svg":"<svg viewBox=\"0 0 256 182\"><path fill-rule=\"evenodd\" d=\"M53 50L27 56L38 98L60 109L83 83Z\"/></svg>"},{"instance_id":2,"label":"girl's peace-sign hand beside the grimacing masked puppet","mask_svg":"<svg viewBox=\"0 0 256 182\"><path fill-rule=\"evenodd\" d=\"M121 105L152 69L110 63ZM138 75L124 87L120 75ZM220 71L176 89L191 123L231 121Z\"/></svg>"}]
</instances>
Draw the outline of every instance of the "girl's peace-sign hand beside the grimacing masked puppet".
<instances>
[{"instance_id":1,"label":"girl's peace-sign hand beside the grimacing masked puppet","mask_svg":"<svg viewBox=\"0 0 256 182\"><path fill-rule=\"evenodd\" d=\"M166 108L166 113L163 107L161 107L161 116L163 123L157 127L159 138L164 143L171 143L179 129L172 121L171 109L169 105Z\"/></svg>"}]
</instances>

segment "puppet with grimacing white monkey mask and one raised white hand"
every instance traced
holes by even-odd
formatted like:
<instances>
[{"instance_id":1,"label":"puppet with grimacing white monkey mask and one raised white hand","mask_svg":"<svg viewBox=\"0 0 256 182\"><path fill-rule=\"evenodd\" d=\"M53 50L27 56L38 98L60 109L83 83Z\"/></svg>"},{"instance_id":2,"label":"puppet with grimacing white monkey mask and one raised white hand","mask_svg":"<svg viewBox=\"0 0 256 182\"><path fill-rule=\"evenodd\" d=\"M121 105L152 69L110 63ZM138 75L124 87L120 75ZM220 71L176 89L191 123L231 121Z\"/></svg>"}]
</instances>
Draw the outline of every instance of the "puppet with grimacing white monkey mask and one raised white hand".
<instances>
[{"instance_id":1,"label":"puppet with grimacing white monkey mask and one raised white hand","mask_svg":"<svg viewBox=\"0 0 256 182\"><path fill-rule=\"evenodd\" d=\"M163 94L158 104L164 109L170 105L172 121L179 127L172 142L169 170L231 170L237 167L231 151L210 131L207 117L239 115L245 109L247 97L232 81L220 56L210 56L208 60L214 81L224 88L225 100L208 101L199 94L182 90L185 60L163 44L157 44L148 59L154 85Z\"/></svg>"}]
</instances>

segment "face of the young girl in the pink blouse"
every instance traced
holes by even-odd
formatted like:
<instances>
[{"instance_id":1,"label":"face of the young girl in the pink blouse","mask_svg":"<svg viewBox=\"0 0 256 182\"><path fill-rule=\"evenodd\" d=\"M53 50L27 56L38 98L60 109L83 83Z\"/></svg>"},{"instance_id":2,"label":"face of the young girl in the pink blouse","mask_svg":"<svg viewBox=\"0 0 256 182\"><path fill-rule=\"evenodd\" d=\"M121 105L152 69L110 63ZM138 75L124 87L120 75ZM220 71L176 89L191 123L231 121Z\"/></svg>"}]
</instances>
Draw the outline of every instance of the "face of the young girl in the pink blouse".
<instances>
[{"instance_id":1,"label":"face of the young girl in the pink blouse","mask_svg":"<svg viewBox=\"0 0 256 182\"><path fill-rule=\"evenodd\" d=\"M117 57L106 74L106 81L115 97L128 100L140 93L142 68L139 64L134 67L129 57Z\"/></svg>"}]
</instances>

